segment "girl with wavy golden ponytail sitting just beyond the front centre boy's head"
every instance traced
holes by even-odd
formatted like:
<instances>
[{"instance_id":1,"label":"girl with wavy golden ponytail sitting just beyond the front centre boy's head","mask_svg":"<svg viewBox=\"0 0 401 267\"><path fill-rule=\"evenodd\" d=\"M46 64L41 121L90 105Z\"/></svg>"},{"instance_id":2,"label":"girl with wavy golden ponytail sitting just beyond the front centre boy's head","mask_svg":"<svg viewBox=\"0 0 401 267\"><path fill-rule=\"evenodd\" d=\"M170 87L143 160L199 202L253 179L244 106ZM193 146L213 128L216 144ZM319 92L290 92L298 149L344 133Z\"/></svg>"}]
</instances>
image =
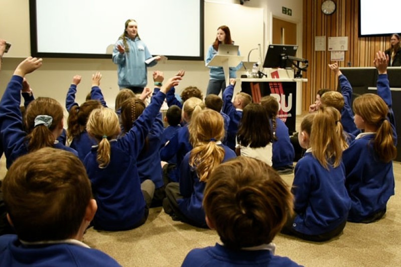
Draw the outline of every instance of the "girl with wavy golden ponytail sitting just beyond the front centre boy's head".
<instances>
[{"instance_id":1,"label":"girl with wavy golden ponytail sitting just beyond the front centre boy's head","mask_svg":"<svg viewBox=\"0 0 401 267\"><path fill-rule=\"evenodd\" d=\"M199 111L189 124L189 134L193 148L182 159L179 183L166 186L163 208L173 219L207 227L202 207L205 185L211 172L236 154L222 144L223 117L214 110Z\"/></svg>"}]
</instances>

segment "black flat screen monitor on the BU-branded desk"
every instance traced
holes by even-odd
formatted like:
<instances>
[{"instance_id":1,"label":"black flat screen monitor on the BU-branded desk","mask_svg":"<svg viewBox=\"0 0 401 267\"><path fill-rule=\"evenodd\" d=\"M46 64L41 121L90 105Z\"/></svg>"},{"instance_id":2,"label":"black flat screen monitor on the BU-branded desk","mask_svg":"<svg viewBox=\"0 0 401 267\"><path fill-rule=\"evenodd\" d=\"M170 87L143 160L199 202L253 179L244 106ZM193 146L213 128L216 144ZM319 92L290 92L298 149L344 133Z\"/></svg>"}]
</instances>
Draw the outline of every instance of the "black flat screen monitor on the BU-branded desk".
<instances>
[{"instance_id":1,"label":"black flat screen monitor on the BU-branded desk","mask_svg":"<svg viewBox=\"0 0 401 267\"><path fill-rule=\"evenodd\" d=\"M295 57L297 49L296 45L269 45L263 68L291 68L292 61L283 57Z\"/></svg>"}]
</instances>

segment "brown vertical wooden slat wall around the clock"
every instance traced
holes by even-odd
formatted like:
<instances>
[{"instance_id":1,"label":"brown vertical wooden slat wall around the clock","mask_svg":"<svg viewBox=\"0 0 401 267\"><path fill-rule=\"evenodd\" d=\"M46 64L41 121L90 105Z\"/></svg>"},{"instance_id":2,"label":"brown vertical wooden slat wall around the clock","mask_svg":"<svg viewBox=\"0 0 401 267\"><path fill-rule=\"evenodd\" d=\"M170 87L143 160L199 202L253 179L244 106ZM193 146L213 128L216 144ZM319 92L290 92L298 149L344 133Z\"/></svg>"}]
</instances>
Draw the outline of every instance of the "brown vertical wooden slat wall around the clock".
<instances>
[{"instance_id":1,"label":"brown vertical wooden slat wall around the clock","mask_svg":"<svg viewBox=\"0 0 401 267\"><path fill-rule=\"evenodd\" d=\"M328 68L330 52L315 51L315 37L348 36L348 51L345 51L345 61L339 62L340 67L371 67L374 55L378 50L390 47L390 37L358 38L358 5L357 0L335 0L336 11L331 16L321 12L324 0L303 0L303 41L302 57L309 61L307 72L303 77L308 79L302 88L302 111L306 112L314 103L316 92L321 88L337 88L337 79ZM374 14L372 14L372 19Z\"/></svg>"}]
</instances>

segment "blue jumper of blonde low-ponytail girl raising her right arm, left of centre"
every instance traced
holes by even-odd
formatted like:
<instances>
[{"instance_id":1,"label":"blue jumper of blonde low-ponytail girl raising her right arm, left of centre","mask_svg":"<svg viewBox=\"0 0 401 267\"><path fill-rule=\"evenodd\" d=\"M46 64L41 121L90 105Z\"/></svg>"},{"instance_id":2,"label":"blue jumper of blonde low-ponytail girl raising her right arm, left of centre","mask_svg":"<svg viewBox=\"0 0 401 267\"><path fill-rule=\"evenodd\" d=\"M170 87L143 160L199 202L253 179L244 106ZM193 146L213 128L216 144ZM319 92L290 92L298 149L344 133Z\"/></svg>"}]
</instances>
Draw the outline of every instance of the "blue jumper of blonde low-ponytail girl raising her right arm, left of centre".
<instances>
[{"instance_id":1,"label":"blue jumper of blonde low-ponytail girl raising her right arm, left of centre","mask_svg":"<svg viewBox=\"0 0 401 267\"><path fill-rule=\"evenodd\" d=\"M84 165L98 205L93 219L95 228L127 230L143 218L145 199L140 187L137 157L164 98L165 94L158 92L132 128L118 140L110 141L109 165L99 168L97 146L85 157Z\"/></svg>"}]
</instances>

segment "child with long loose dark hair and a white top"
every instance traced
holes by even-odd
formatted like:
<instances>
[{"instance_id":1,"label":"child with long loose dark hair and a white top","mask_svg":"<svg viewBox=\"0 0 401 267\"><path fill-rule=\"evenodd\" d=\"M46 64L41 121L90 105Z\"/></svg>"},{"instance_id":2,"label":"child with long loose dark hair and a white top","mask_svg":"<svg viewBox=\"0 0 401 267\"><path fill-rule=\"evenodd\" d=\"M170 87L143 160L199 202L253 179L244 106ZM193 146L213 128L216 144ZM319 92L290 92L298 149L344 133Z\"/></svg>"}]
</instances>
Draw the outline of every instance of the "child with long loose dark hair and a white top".
<instances>
[{"instance_id":1,"label":"child with long loose dark hair and a white top","mask_svg":"<svg viewBox=\"0 0 401 267\"><path fill-rule=\"evenodd\" d=\"M272 166L273 133L269 116L259 104L248 104L242 113L237 133L237 155L262 160Z\"/></svg>"}]
</instances>

